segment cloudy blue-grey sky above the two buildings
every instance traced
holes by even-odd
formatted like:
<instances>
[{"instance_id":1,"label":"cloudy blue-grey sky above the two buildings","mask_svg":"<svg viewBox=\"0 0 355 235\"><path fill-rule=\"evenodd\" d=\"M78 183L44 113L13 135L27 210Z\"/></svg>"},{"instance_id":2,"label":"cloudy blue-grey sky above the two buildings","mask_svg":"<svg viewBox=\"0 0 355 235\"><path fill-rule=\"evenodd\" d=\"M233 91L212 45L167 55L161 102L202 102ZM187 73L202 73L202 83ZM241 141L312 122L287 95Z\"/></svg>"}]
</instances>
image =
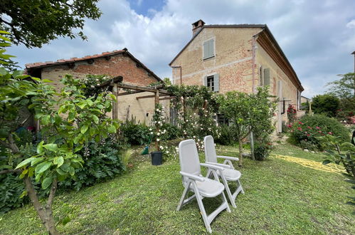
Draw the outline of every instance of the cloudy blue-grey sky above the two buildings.
<instances>
[{"instance_id":1,"label":"cloudy blue-grey sky above the two buildings","mask_svg":"<svg viewBox=\"0 0 355 235\"><path fill-rule=\"evenodd\" d=\"M325 83L354 71L354 0L101 0L102 17L87 21L88 41L59 38L43 48L16 46L9 53L25 63L55 61L128 50L161 78L191 38L191 23L266 23L304 87L323 93Z\"/></svg>"}]
</instances>

